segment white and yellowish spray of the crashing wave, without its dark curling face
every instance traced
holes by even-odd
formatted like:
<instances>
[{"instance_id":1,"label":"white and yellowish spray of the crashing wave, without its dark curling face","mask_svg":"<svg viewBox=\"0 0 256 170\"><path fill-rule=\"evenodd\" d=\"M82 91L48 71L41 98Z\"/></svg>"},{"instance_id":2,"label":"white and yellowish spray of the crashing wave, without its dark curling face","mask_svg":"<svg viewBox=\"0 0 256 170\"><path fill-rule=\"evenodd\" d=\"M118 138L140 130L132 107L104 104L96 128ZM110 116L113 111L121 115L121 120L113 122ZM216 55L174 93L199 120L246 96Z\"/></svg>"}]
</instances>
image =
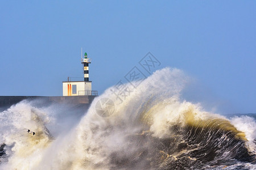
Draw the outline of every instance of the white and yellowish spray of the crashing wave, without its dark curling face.
<instances>
[{"instance_id":1,"label":"white and yellowish spray of the crashing wave, without its dark curling face","mask_svg":"<svg viewBox=\"0 0 256 170\"><path fill-rule=\"evenodd\" d=\"M0 169L110 169L111 154L129 155L138 150L126 137L141 133L145 125L154 137L164 138L171 134L168 127L184 123L188 113L193 120L224 118L202 111L200 104L180 100L188 81L181 70L158 70L134 88L122 103L109 88L94 99L82 118L54 105L35 108L31 103L16 104L0 114L0 144L7 145L7 156L2 159ZM110 117L101 117L96 112L96 104L102 98L115 103ZM61 119L61 114L68 118ZM250 124L254 126L255 122ZM35 137L23 128L34 130ZM238 130L246 131L250 141L255 138L252 135L255 131L248 129Z\"/></svg>"}]
</instances>

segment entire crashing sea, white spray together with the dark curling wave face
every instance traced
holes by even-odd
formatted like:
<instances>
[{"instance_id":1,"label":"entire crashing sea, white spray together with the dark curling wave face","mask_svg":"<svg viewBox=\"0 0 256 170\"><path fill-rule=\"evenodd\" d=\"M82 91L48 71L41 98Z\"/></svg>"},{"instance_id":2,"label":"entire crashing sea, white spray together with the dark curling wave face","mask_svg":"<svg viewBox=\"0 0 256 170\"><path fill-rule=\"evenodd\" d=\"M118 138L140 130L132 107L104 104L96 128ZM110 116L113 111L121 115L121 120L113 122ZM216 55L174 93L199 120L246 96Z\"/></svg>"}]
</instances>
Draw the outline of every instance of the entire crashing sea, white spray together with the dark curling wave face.
<instances>
[{"instance_id":1,"label":"entire crashing sea, white spray together with the dark curling wave face","mask_svg":"<svg viewBox=\"0 0 256 170\"><path fill-rule=\"evenodd\" d=\"M84 114L40 101L13 105L0 113L0 169L256 169L255 119L185 101L188 80L158 70L136 89L126 84L134 90L122 103L109 88ZM103 98L115 104L109 117L95 109Z\"/></svg>"}]
</instances>

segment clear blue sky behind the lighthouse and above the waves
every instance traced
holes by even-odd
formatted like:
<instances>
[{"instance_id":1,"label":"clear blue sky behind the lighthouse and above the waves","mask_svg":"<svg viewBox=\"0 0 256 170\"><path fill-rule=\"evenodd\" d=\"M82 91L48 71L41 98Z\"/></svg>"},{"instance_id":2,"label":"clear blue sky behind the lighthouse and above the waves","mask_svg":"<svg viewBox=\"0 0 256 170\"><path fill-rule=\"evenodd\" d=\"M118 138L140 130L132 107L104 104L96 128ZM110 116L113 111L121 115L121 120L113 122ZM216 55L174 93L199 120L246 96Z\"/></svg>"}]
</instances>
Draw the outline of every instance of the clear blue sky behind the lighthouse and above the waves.
<instances>
[{"instance_id":1,"label":"clear blue sky behind the lighthouse and above the waves","mask_svg":"<svg viewBox=\"0 0 256 170\"><path fill-rule=\"evenodd\" d=\"M0 95L62 95L82 47L100 94L151 52L196 79L187 100L256 112L256 1L0 3Z\"/></svg>"}]
</instances>

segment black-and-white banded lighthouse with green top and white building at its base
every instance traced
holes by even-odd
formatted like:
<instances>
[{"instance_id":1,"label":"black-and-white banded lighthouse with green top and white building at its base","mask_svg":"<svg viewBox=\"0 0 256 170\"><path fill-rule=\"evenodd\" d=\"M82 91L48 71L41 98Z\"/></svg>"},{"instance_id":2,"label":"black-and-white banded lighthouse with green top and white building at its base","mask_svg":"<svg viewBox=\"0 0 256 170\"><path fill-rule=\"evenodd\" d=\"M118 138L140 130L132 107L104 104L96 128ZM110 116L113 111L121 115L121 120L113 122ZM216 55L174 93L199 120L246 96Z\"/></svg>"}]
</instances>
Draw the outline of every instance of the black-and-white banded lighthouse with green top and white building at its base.
<instances>
[{"instance_id":1,"label":"black-and-white banded lighthouse with green top and white building at its base","mask_svg":"<svg viewBox=\"0 0 256 170\"><path fill-rule=\"evenodd\" d=\"M84 70L84 80L71 81L71 78L68 77L67 82L62 82L63 96L98 95L98 91L92 91L92 81L89 81L89 63L91 63L91 61L92 60L88 58L87 53L84 54L84 58L81 57L81 63Z\"/></svg>"}]
</instances>

